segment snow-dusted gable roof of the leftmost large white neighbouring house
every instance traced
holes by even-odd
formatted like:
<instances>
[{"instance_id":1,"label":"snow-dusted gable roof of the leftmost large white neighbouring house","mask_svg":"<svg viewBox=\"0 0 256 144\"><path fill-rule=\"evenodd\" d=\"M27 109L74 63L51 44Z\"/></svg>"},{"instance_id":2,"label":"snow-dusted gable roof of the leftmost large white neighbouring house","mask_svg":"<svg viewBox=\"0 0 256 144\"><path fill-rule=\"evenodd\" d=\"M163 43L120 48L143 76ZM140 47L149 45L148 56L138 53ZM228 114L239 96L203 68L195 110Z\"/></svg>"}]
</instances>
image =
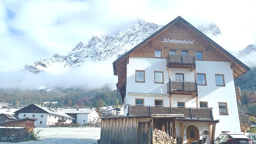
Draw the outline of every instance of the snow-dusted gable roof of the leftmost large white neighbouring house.
<instances>
[{"instance_id":1,"label":"snow-dusted gable roof of the leftmost large white neighbouring house","mask_svg":"<svg viewBox=\"0 0 256 144\"><path fill-rule=\"evenodd\" d=\"M44 107L44 106L42 107L42 106L37 105L37 104L34 104L34 103L32 103L31 105L37 106L37 107L40 108L41 110L46 111L46 113L50 113L50 114L58 115L58 116L64 116L64 117L67 117L67 118L72 118L71 116L69 116L69 115L67 115L66 113L63 113L63 112L61 112L61 111L59 111L59 110L50 109L50 108ZM28 106L31 106L31 105L28 105ZM26 106L26 107L24 107L24 108L21 108L20 110L17 110L17 111L15 111L14 113L19 113L21 110L27 108L28 106ZM72 118L72 119L74 119L74 118Z\"/></svg>"}]
</instances>

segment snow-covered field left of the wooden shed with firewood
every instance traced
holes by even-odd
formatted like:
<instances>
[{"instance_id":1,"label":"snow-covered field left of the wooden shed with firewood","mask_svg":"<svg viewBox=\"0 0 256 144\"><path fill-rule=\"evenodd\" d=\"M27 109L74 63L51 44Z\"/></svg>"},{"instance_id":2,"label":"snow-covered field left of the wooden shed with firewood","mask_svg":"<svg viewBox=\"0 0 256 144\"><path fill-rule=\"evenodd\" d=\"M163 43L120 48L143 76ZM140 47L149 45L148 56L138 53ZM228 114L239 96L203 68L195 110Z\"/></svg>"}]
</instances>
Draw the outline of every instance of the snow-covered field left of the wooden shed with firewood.
<instances>
[{"instance_id":1,"label":"snow-covered field left of the wooden shed with firewood","mask_svg":"<svg viewBox=\"0 0 256 144\"><path fill-rule=\"evenodd\" d=\"M18 144L97 144L100 128L35 128L42 130L38 141L20 142ZM1 143L1 142L0 142ZM5 142L3 144L13 144Z\"/></svg>"}]
</instances>

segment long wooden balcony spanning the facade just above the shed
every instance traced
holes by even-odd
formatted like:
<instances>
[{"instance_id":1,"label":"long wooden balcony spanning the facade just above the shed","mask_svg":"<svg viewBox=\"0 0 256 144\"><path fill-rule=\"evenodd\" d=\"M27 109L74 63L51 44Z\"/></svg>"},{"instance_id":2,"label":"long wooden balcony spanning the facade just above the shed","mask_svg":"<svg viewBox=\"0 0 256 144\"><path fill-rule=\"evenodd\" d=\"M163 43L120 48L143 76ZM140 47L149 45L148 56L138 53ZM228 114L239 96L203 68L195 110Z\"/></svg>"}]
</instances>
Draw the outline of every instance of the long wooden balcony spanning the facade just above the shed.
<instances>
[{"instance_id":1,"label":"long wooden balcony spanning the facade just above the shed","mask_svg":"<svg viewBox=\"0 0 256 144\"><path fill-rule=\"evenodd\" d=\"M152 114L184 114L185 118L189 119L211 119L212 108L177 108L170 106L138 106L127 105L129 116L141 116Z\"/></svg>"}]
</instances>

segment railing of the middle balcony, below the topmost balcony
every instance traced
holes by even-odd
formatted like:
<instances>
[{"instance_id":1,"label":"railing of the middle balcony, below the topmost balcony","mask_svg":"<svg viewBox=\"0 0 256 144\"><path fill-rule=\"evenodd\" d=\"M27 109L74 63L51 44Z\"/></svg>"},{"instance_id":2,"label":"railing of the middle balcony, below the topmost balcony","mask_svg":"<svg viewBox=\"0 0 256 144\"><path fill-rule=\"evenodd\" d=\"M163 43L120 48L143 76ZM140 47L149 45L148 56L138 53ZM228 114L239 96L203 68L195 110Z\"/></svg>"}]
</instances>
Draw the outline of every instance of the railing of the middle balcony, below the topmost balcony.
<instances>
[{"instance_id":1,"label":"railing of the middle balcony, below the topmost balcony","mask_svg":"<svg viewBox=\"0 0 256 144\"><path fill-rule=\"evenodd\" d=\"M167 90L169 91L184 91L184 92L197 92L197 82L186 81L172 81L167 83Z\"/></svg>"}]
</instances>

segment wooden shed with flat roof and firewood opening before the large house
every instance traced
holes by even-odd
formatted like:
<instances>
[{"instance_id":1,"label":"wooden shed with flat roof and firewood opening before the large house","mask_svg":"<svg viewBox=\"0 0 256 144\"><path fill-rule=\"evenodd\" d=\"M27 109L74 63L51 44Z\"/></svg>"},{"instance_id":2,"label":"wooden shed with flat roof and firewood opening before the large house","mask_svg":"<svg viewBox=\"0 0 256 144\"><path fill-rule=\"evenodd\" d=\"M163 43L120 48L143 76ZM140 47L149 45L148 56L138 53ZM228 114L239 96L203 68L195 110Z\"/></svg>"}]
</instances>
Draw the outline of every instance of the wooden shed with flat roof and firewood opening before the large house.
<instances>
[{"instance_id":1,"label":"wooden shed with flat roof and firewood opening before the large house","mask_svg":"<svg viewBox=\"0 0 256 144\"><path fill-rule=\"evenodd\" d=\"M150 144L153 143L153 129L160 129L176 137L176 118L182 114L155 114L144 116L103 117L100 144Z\"/></svg>"}]
</instances>

